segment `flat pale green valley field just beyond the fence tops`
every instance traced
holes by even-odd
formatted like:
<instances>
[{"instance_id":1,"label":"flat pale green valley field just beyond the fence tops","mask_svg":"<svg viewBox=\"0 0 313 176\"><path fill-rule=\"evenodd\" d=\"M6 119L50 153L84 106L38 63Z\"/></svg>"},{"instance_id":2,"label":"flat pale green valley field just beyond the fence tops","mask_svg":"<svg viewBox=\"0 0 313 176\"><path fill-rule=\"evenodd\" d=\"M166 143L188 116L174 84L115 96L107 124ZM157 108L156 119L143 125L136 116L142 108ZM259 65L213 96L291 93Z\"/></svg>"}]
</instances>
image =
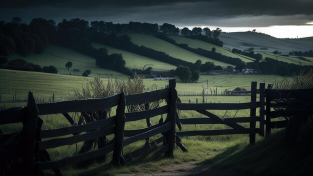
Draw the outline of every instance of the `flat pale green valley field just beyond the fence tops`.
<instances>
[{"instance_id":1,"label":"flat pale green valley field just beyond the fence tops","mask_svg":"<svg viewBox=\"0 0 313 176\"><path fill-rule=\"evenodd\" d=\"M119 76L119 78L126 78L126 76ZM221 75L200 75L199 81L196 83L182 83L177 81L176 87L178 94L185 93L200 93L202 92L202 85L206 87L206 80L212 89L217 92L225 89L234 89L236 87L250 89L251 81L273 83L273 81L280 80L281 76L276 75L244 75L244 74L221 74ZM35 97L43 97L48 99L54 91L55 99L61 99L68 94L72 94L73 88L80 88L83 81L92 79L91 77L50 74L41 72L28 72L18 70L0 69L0 96L2 100L12 99L12 94L15 93L19 98L24 98L28 90L32 90ZM104 82L107 81L105 76L102 77ZM146 86L155 83L158 88L164 87L168 84L168 80L154 80L144 79ZM267 86L267 85L266 85ZM210 90L206 89L205 93Z\"/></svg>"}]
</instances>

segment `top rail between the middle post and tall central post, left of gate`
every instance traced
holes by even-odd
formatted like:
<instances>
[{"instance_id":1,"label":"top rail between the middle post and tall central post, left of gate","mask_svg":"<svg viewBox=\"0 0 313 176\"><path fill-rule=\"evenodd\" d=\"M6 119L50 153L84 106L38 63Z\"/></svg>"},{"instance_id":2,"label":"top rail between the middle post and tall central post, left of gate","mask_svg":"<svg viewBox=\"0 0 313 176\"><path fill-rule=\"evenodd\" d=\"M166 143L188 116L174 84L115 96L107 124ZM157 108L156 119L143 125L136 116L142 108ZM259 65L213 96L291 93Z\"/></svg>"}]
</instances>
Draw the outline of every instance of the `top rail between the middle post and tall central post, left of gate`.
<instances>
[{"instance_id":1,"label":"top rail between the middle post and tall central post, left of gate","mask_svg":"<svg viewBox=\"0 0 313 176\"><path fill-rule=\"evenodd\" d=\"M144 93L126 95L126 105L144 104L147 102L158 101L166 99L169 96L169 88L162 88L158 90L148 91Z\"/></svg>"}]
</instances>

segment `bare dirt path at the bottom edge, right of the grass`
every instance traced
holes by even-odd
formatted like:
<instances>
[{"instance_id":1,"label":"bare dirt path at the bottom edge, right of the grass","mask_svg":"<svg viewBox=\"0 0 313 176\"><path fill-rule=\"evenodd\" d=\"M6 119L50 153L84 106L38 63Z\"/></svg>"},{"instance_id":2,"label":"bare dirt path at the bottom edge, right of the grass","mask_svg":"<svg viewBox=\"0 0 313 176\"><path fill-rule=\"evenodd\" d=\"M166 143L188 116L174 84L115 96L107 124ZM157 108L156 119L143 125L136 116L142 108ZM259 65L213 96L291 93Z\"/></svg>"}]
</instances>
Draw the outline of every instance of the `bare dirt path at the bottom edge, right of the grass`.
<instances>
[{"instance_id":1,"label":"bare dirt path at the bottom edge, right of the grass","mask_svg":"<svg viewBox=\"0 0 313 176\"><path fill-rule=\"evenodd\" d=\"M180 164L171 164L165 167L162 167L159 171L156 172L136 172L136 173L127 173L127 174L118 174L120 176L126 175L164 175L164 176L184 176L184 175L210 175L210 176L225 176L225 175L242 175L238 171L235 171L231 168L217 168L212 167L212 164L202 164L196 165L194 161L180 163Z\"/></svg>"}]
</instances>

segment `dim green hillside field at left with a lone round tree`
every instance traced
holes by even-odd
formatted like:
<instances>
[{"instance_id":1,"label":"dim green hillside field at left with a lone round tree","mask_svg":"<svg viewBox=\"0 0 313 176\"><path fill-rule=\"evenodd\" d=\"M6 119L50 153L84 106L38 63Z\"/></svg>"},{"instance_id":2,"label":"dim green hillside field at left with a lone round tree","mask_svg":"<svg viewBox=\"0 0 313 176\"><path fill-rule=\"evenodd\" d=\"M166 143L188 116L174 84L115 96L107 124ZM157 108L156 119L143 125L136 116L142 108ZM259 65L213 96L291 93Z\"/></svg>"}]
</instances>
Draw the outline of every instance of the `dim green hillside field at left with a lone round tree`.
<instances>
[{"instance_id":1,"label":"dim green hillside field at left with a lone round tree","mask_svg":"<svg viewBox=\"0 0 313 176\"><path fill-rule=\"evenodd\" d=\"M19 54L14 53L10 55L10 59L13 58L23 58L27 62L38 64L41 67L54 65L58 69L58 73L60 74L68 73L65 67L65 63L67 61L71 61L73 65L70 70L74 68L79 69L79 75L81 75L84 70L90 69L90 76L100 75L101 77L105 77L107 73L112 74L112 76L126 77L126 75L117 71L96 66L95 59L90 56L53 44L49 44L48 47L41 54L31 53L26 57L22 57Z\"/></svg>"}]
</instances>

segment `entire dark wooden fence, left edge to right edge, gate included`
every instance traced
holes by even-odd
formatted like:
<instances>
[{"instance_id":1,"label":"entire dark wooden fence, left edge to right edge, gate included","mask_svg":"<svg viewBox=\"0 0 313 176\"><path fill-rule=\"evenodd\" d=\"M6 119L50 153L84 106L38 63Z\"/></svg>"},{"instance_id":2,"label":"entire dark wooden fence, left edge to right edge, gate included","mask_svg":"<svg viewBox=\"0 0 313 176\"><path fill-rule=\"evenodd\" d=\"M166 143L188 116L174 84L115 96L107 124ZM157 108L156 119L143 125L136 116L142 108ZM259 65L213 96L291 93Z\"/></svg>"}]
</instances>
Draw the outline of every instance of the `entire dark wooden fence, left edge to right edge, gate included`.
<instances>
[{"instance_id":1,"label":"entire dark wooden fence, left edge to right edge, gate included","mask_svg":"<svg viewBox=\"0 0 313 176\"><path fill-rule=\"evenodd\" d=\"M27 106L13 107L0 111L0 124L9 124L21 122L23 127L21 131L2 134L0 131L0 164L5 165L9 160L21 158L20 171L24 175L39 175L42 170L53 169L56 175L60 175L59 167L73 164L92 158L105 158L109 152L112 153L112 164L118 166L132 158L139 156L141 158L147 156L152 151L154 157L165 153L172 156L174 145L179 146L183 151L187 149L181 143L179 136L192 135L224 135L224 134L249 134L249 142L255 142L255 134L264 135L266 125L266 133L270 133L273 127L285 127L287 121L271 121L271 118L278 116L292 116L295 114L311 114L312 108L304 110L274 110L272 107L281 107L286 104L283 102L274 103L274 99L281 98L307 98L313 97L313 89L302 90L274 90L265 89L265 83L259 84L251 82L251 98L250 102L244 103L181 103L177 98L175 89L175 79L169 80L169 86L163 89L124 95L124 93L116 94L106 98L68 100L51 103L36 104L32 92L28 94ZM256 94L259 93L257 101ZM150 102L160 99L166 100L166 105L156 108L149 107ZM266 99L266 101L264 100ZM178 102L177 102L178 100ZM142 111L127 112L125 107L131 105L142 105ZM266 105L266 110L265 110ZM116 114L111 117L98 119L86 124L81 121L78 124L72 119L68 112L81 112L83 116L93 118L103 113L104 109L116 107ZM259 108L259 114L256 114L256 108ZM221 118L207 110L238 110L250 109L249 116ZM207 117L179 118L178 110L195 110ZM46 114L63 114L71 123L71 126L41 130L42 120L39 115ZM160 118L157 124L152 125L150 118L166 114L165 120ZM264 116L266 115L266 120ZM146 119L147 127L139 129L125 129L125 123L130 121ZM256 127L256 122L259 126ZM246 127L239 123L249 123ZM190 130L175 131L175 126L181 130L181 124L225 124L231 128L214 129L214 130ZM107 135L114 135L111 140L107 140ZM154 135L160 137L150 141L150 137ZM98 149L79 153L70 157L59 160L51 160L46 149L70 145L80 141L88 141L99 138L101 147ZM145 140L145 144L128 154L123 155L123 147ZM161 145L158 145L162 143Z\"/></svg>"}]
</instances>

